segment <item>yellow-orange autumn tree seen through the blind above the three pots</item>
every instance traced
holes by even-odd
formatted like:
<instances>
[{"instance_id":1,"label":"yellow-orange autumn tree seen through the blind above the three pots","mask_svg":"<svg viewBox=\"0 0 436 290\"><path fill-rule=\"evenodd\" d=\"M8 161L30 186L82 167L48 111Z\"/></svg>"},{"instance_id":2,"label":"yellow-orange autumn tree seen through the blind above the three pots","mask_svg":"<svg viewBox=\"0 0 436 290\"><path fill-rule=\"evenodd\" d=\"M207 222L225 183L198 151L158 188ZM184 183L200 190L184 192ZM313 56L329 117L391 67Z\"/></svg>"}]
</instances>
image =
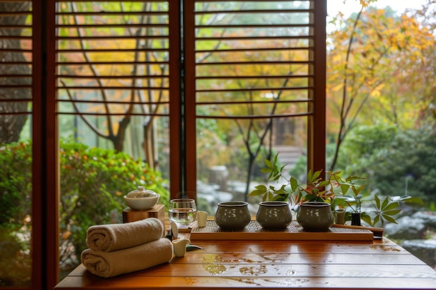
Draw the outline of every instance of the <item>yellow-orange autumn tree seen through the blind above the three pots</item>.
<instances>
[{"instance_id":1,"label":"yellow-orange autumn tree seen through the blind above the three pots","mask_svg":"<svg viewBox=\"0 0 436 290\"><path fill-rule=\"evenodd\" d=\"M205 6L210 5L219 4L205 3ZM306 31L297 25L293 26L294 23L305 23L307 20L296 19L297 13L292 16L291 13L281 13L278 17L272 17L271 13L259 13L256 17L249 13L231 13L233 10L270 11L277 9L277 3L228 5L240 7L225 8L229 13L220 14L219 17L200 19L201 24L208 24L213 28L198 29L199 35L196 36L219 40L198 44L199 50L213 51L200 54L201 57L197 59L197 63L202 64L198 68L200 78L197 90L204 91L198 93L198 102L213 104L203 106L206 108L204 110L198 109L202 113L198 118L217 118L220 131L223 134L226 132L228 136L228 147L244 148L242 154L247 156L243 169L247 195L260 152L272 154L272 128L274 120L277 119L270 116L281 115L290 119L290 116L297 115L299 111L307 110L305 104L295 102L307 97L304 90L298 88L308 86L309 81L304 76L309 69L305 65L296 64L308 62L305 51L307 44L304 43ZM283 9L291 10L295 9L296 4L286 5ZM203 7L201 10L220 9L223 8ZM272 26L266 27L264 23L272 23ZM276 38L265 40L267 35L274 35ZM208 128L203 130L207 131ZM232 156L231 161L234 160L239 159Z\"/></svg>"}]
</instances>

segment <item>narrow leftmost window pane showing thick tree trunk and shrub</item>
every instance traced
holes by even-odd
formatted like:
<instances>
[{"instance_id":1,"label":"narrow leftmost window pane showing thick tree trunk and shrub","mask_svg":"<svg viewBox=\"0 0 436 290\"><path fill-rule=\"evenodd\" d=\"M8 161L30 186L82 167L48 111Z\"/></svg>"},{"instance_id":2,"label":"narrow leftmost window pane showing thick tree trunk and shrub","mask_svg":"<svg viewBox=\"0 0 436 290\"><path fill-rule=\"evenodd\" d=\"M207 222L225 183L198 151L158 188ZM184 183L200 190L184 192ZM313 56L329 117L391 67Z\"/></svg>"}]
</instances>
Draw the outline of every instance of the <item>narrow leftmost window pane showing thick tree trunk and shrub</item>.
<instances>
[{"instance_id":1,"label":"narrow leftmost window pane showing thick tree trunk and shrub","mask_svg":"<svg viewBox=\"0 0 436 290\"><path fill-rule=\"evenodd\" d=\"M32 283L31 9L0 3L0 287Z\"/></svg>"}]
</instances>

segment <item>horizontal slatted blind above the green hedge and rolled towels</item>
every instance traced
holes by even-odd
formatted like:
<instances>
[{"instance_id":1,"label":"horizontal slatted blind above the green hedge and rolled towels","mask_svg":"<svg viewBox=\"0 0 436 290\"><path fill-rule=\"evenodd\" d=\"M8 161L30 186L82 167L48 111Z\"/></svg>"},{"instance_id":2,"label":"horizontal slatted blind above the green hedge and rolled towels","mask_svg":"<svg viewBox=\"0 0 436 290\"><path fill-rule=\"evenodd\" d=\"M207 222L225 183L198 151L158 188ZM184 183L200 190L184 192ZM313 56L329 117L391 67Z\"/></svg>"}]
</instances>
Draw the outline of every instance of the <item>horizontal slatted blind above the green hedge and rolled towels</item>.
<instances>
[{"instance_id":1,"label":"horizontal slatted blind above the green hedge and rolled towels","mask_svg":"<svg viewBox=\"0 0 436 290\"><path fill-rule=\"evenodd\" d=\"M169 3L58 2L59 113L169 115Z\"/></svg>"}]
</instances>

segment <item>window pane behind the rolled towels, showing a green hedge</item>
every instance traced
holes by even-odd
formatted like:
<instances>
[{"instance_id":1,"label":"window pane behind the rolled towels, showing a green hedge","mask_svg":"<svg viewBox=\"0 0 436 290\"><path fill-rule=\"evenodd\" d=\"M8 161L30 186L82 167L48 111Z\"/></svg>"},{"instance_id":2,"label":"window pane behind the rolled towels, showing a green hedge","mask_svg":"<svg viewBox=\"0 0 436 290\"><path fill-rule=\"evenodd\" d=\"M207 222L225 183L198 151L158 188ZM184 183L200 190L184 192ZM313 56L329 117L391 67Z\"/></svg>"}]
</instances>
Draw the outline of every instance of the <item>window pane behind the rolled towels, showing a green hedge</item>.
<instances>
[{"instance_id":1,"label":"window pane behind the rolled towels, showing a green hedge","mask_svg":"<svg viewBox=\"0 0 436 290\"><path fill-rule=\"evenodd\" d=\"M123 196L169 199L169 6L59 3L56 99L61 276L80 263L91 225L121 223Z\"/></svg>"}]
</instances>

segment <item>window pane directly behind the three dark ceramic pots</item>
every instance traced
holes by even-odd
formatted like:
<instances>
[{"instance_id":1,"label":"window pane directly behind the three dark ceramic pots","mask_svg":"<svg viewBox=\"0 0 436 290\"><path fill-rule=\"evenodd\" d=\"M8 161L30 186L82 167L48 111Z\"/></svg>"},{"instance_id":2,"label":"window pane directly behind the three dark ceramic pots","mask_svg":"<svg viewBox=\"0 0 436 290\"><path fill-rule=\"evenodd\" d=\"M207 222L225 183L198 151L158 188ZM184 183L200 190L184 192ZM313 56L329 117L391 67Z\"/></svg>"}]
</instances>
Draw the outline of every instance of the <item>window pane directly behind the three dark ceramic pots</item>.
<instances>
[{"instance_id":1,"label":"window pane directly behind the three dark ceramic pots","mask_svg":"<svg viewBox=\"0 0 436 290\"><path fill-rule=\"evenodd\" d=\"M200 207L251 202L263 160L307 153L313 82L309 1L196 1L196 172ZM306 163L300 164L303 175Z\"/></svg>"}]
</instances>

